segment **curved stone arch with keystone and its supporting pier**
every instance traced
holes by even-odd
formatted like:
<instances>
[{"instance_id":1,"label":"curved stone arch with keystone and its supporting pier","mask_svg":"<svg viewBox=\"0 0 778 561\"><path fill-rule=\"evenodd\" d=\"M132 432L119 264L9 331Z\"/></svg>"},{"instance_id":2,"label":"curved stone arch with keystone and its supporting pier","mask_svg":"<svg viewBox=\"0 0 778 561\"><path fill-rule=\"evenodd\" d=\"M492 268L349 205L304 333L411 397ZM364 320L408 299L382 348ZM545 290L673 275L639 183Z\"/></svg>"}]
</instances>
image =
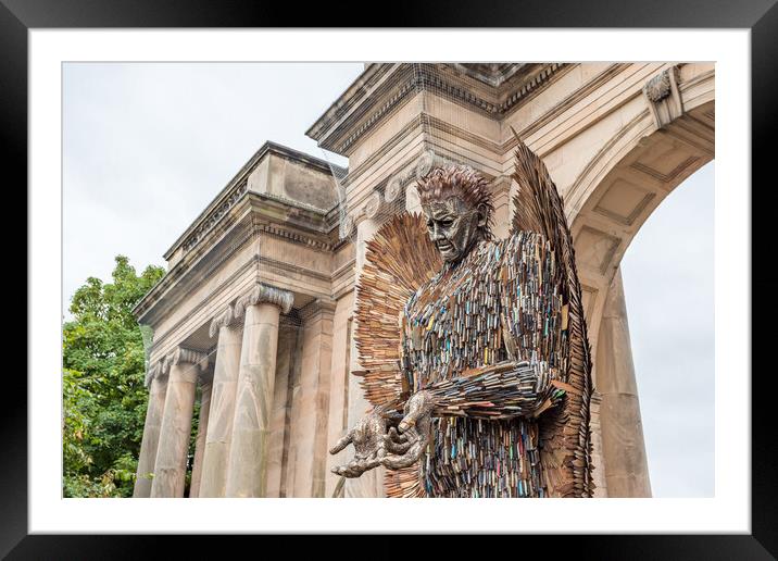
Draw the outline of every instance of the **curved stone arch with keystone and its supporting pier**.
<instances>
[{"instance_id":1,"label":"curved stone arch with keystone and its supporting pier","mask_svg":"<svg viewBox=\"0 0 778 561\"><path fill-rule=\"evenodd\" d=\"M619 264L667 195L714 159L714 73L695 70L663 72L664 95L649 83L645 110L601 145L565 194L594 354L599 496L651 494Z\"/></svg>"}]
</instances>

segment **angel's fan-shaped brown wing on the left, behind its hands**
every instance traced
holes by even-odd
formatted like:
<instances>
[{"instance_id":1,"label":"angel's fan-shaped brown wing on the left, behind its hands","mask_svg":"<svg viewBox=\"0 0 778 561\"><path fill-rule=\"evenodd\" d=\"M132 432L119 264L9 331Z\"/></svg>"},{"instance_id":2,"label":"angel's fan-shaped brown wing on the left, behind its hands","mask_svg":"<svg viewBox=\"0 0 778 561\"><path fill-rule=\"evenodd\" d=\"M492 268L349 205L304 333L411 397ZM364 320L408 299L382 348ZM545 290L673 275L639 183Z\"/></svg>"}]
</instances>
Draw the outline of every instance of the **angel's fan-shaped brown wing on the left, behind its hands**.
<instances>
[{"instance_id":1,"label":"angel's fan-shaped brown wing on the left, behind its hands","mask_svg":"<svg viewBox=\"0 0 778 561\"><path fill-rule=\"evenodd\" d=\"M402 213L384 224L367 242L365 264L356 286L356 341L361 386L373 406L384 406L402 392L400 312L409 298L442 265L418 214ZM418 467L387 470L388 497L424 494Z\"/></svg>"}]
</instances>

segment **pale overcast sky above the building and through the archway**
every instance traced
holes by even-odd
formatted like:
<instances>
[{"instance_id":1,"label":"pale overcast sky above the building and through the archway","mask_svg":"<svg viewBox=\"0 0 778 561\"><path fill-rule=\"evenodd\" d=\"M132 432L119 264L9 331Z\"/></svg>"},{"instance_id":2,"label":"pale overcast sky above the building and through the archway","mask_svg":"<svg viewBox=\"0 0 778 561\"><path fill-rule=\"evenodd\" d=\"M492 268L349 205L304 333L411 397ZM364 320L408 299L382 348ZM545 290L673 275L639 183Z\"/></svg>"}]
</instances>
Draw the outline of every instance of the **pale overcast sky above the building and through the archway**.
<instances>
[{"instance_id":1,"label":"pale overcast sky above the building and through the archway","mask_svg":"<svg viewBox=\"0 0 778 561\"><path fill-rule=\"evenodd\" d=\"M165 265L165 250L265 140L323 158L304 133L362 68L65 64L63 314L88 276L110 282L116 254L138 271ZM714 493L713 195L708 164L622 263L655 497Z\"/></svg>"}]
</instances>

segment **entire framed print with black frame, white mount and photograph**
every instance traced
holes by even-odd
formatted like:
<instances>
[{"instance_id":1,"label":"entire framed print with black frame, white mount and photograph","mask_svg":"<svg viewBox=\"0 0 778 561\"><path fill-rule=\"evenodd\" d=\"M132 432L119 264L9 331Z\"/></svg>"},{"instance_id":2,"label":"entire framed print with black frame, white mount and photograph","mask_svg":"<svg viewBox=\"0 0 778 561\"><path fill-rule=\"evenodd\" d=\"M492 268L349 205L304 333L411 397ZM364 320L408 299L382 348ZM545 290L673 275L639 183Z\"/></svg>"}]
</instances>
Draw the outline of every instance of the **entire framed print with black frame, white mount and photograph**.
<instances>
[{"instance_id":1,"label":"entire framed print with black frame, white mount and photograph","mask_svg":"<svg viewBox=\"0 0 778 561\"><path fill-rule=\"evenodd\" d=\"M771 285L749 283L775 7L283 30L247 7L77 4L2 8L3 134L32 208L10 558L153 546L66 536L86 533L775 554L770 379L751 374L771 332L750 329ZM650 230L702 177L689 229ZM629 269L643 224L686 277ZM652 323L662 344L640 350ZM166 500L184 497L201 500Z\"/></svg>"}]
</instances>

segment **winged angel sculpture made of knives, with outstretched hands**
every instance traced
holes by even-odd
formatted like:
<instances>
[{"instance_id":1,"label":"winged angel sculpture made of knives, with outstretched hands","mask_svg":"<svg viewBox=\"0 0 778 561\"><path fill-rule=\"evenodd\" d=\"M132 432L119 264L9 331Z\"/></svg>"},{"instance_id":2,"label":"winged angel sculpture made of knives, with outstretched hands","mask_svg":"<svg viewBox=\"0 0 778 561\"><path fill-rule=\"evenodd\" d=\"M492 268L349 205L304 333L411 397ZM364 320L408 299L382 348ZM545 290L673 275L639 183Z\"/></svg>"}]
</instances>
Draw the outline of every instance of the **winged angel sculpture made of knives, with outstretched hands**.
<instances>
[{"instance_id":1,"label":"winged angel sculpture made of knives, with outstretched hands","mask_svg":"<svg viewBox=\"0 0 778 561\"><path fill-rule=\"evenodd\" d=\"M515 133L514 133L515 134ZM372 411L332 471L387 467L389 497L591 497L591 359L563 202L516 137L511 234L488 183L449 165L418 180L423 214L367 242L356 289Z\"/></svg>"}]
</instances>

